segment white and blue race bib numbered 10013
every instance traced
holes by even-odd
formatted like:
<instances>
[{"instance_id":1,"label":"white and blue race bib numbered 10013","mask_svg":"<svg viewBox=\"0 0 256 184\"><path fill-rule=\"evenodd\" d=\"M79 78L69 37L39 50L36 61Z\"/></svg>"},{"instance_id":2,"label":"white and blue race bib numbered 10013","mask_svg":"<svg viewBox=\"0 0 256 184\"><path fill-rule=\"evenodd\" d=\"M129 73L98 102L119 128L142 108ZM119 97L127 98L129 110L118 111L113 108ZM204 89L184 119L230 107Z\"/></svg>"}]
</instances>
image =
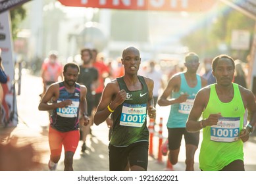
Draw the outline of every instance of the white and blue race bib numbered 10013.
<instances>
[{"instance_id":1,"label":"white and blue race bib numbered 10013","mask_svg":"<svg viewBox=\"0 0 256 184\"><path fill-rule=\"evenodd\" d=\"M211 126L211 141L234 142L240 135L240 117L220 118L216 126Z\"/></svg>"}]
</instances>

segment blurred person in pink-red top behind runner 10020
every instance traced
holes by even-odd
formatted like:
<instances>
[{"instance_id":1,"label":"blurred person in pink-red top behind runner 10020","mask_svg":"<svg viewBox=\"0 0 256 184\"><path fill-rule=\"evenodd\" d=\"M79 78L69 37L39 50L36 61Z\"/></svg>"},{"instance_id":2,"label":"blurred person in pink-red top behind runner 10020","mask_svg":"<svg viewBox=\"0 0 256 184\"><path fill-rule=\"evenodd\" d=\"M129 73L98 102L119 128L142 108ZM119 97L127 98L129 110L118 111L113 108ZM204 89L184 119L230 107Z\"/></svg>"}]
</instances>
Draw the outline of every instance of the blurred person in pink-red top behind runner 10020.
<instances>
[{"instance_id":1,"label":"blurred person in pink-red top behind runner 10020","mask_svg":"<svg viewBox=\"0 0 256 184\"><path fill-rule=\"evenodd\" d=\"M45 58L43 64L41 66L41 78L43 80L43 93L41 93L40 97L43 97L46 89L52 83L59 81L59 77L63 80L63 66L58 61L58 53L57 51L50 51L49 57Z\"/></svg>"}]
</instances>

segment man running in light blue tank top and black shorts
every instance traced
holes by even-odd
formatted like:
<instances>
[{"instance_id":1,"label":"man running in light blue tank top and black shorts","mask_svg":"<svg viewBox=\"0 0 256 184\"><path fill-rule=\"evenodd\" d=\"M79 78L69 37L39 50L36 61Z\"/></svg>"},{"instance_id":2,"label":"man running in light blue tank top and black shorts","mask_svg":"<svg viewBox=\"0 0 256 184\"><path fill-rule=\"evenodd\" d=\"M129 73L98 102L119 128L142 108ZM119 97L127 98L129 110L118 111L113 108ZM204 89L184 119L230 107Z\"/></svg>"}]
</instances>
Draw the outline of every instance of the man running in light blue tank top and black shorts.
<instances>
[{"instance_id":1,"label":"man running in light blue tank top and black shorts","mask_svg":"<svg viewBox=\"0 0 256 184\"><path fill-rule=\"evenodd\" d=\"M188 53L185 58L186 72L174 74L168 81L163 95L157 103L159 106L170 105L170 114L168 115L168 149L163 147L163 155L167 155L172 165L178 162L180 145L184 136L186 144L186 170L194 170L194 155L199 144L199 132L189 133L186 131L186 121L188 114L193 106L195 95L205 85L207 80L201 78L196 72L199 67L199 57L195 53Z\"/></svg>"}]
</instances>

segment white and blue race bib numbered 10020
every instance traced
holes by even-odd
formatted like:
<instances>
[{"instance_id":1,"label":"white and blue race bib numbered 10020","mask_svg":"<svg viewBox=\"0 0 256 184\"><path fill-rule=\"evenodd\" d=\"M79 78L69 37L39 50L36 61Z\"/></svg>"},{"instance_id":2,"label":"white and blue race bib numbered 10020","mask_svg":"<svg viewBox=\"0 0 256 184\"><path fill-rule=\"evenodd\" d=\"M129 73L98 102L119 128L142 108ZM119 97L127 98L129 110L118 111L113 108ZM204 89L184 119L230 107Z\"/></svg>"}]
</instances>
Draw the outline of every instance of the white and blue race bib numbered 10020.
<instances>
[{"instance_id":1,"label":"white and blue race bib numbered 10020","mask_svg":"<svg viewBox=\"0 0 256 184\"><path fill-rule=\"evenodd\" d=\"M61 101L57 101L57 103L61 103ZM65 118L75 118L78 113L79 102L72 101L72 104L63 108L57 108L57 114L61 117Z\"/></svg>"}]
</instances>

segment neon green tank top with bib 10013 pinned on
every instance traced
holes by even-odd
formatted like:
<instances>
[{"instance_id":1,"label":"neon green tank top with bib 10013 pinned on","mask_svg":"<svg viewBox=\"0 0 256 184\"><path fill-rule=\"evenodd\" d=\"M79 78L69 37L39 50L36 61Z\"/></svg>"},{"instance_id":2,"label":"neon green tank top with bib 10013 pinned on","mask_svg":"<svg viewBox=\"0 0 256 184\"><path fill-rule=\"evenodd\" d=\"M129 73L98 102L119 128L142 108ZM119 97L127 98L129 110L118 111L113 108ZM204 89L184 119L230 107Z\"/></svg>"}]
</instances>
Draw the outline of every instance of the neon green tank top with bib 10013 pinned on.
<instances>
[{"instance_id":1,"label":"neon green tank top with bib 10013 pinned on","mask_svg":"<svg viewBox=\"0 0 256 184\"><path fill-rule=\"evenodd\" d=\"M210 114L221 112L222 118L216 126L203 128L203 141L199 153L199 168L205 171L222 170L234 160L243 160L243 143L238 139L243 128L245 108L239 87L233 83L234 97L228 103L218 99L216 85L211 85L207 107L203 119Z\"/></svg>"}]
</instances>

